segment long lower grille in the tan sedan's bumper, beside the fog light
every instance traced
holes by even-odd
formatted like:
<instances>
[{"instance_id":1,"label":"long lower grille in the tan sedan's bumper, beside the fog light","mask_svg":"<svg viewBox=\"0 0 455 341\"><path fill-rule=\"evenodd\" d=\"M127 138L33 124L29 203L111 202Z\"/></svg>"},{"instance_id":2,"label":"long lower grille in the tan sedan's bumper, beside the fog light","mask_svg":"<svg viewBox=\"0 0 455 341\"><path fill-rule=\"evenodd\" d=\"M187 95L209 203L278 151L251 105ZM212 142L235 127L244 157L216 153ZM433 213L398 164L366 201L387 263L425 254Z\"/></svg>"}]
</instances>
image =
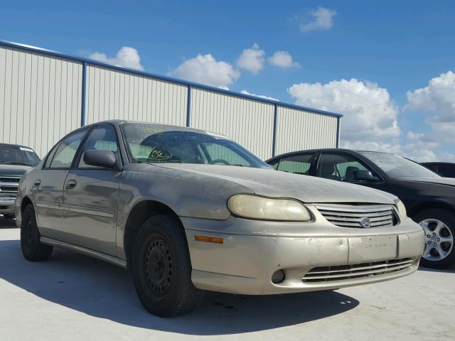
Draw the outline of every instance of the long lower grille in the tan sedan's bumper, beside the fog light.
<instances>
[{"instance_id":1,"label":"long lower grille in the tan sedan's bumper, beside the fog light","mask_svg":"<svg viewBox=\"0 0 455 341\"><path fill-rule=\"evenodd\" d=\"M403 271L414 264L414 259L393 259L390 261L375 261L341 266L321 266L313 268L301 280L304 283L318 283L328 281L344 281L353 278L373 277Z\"/></svg>"}]
</instances>

